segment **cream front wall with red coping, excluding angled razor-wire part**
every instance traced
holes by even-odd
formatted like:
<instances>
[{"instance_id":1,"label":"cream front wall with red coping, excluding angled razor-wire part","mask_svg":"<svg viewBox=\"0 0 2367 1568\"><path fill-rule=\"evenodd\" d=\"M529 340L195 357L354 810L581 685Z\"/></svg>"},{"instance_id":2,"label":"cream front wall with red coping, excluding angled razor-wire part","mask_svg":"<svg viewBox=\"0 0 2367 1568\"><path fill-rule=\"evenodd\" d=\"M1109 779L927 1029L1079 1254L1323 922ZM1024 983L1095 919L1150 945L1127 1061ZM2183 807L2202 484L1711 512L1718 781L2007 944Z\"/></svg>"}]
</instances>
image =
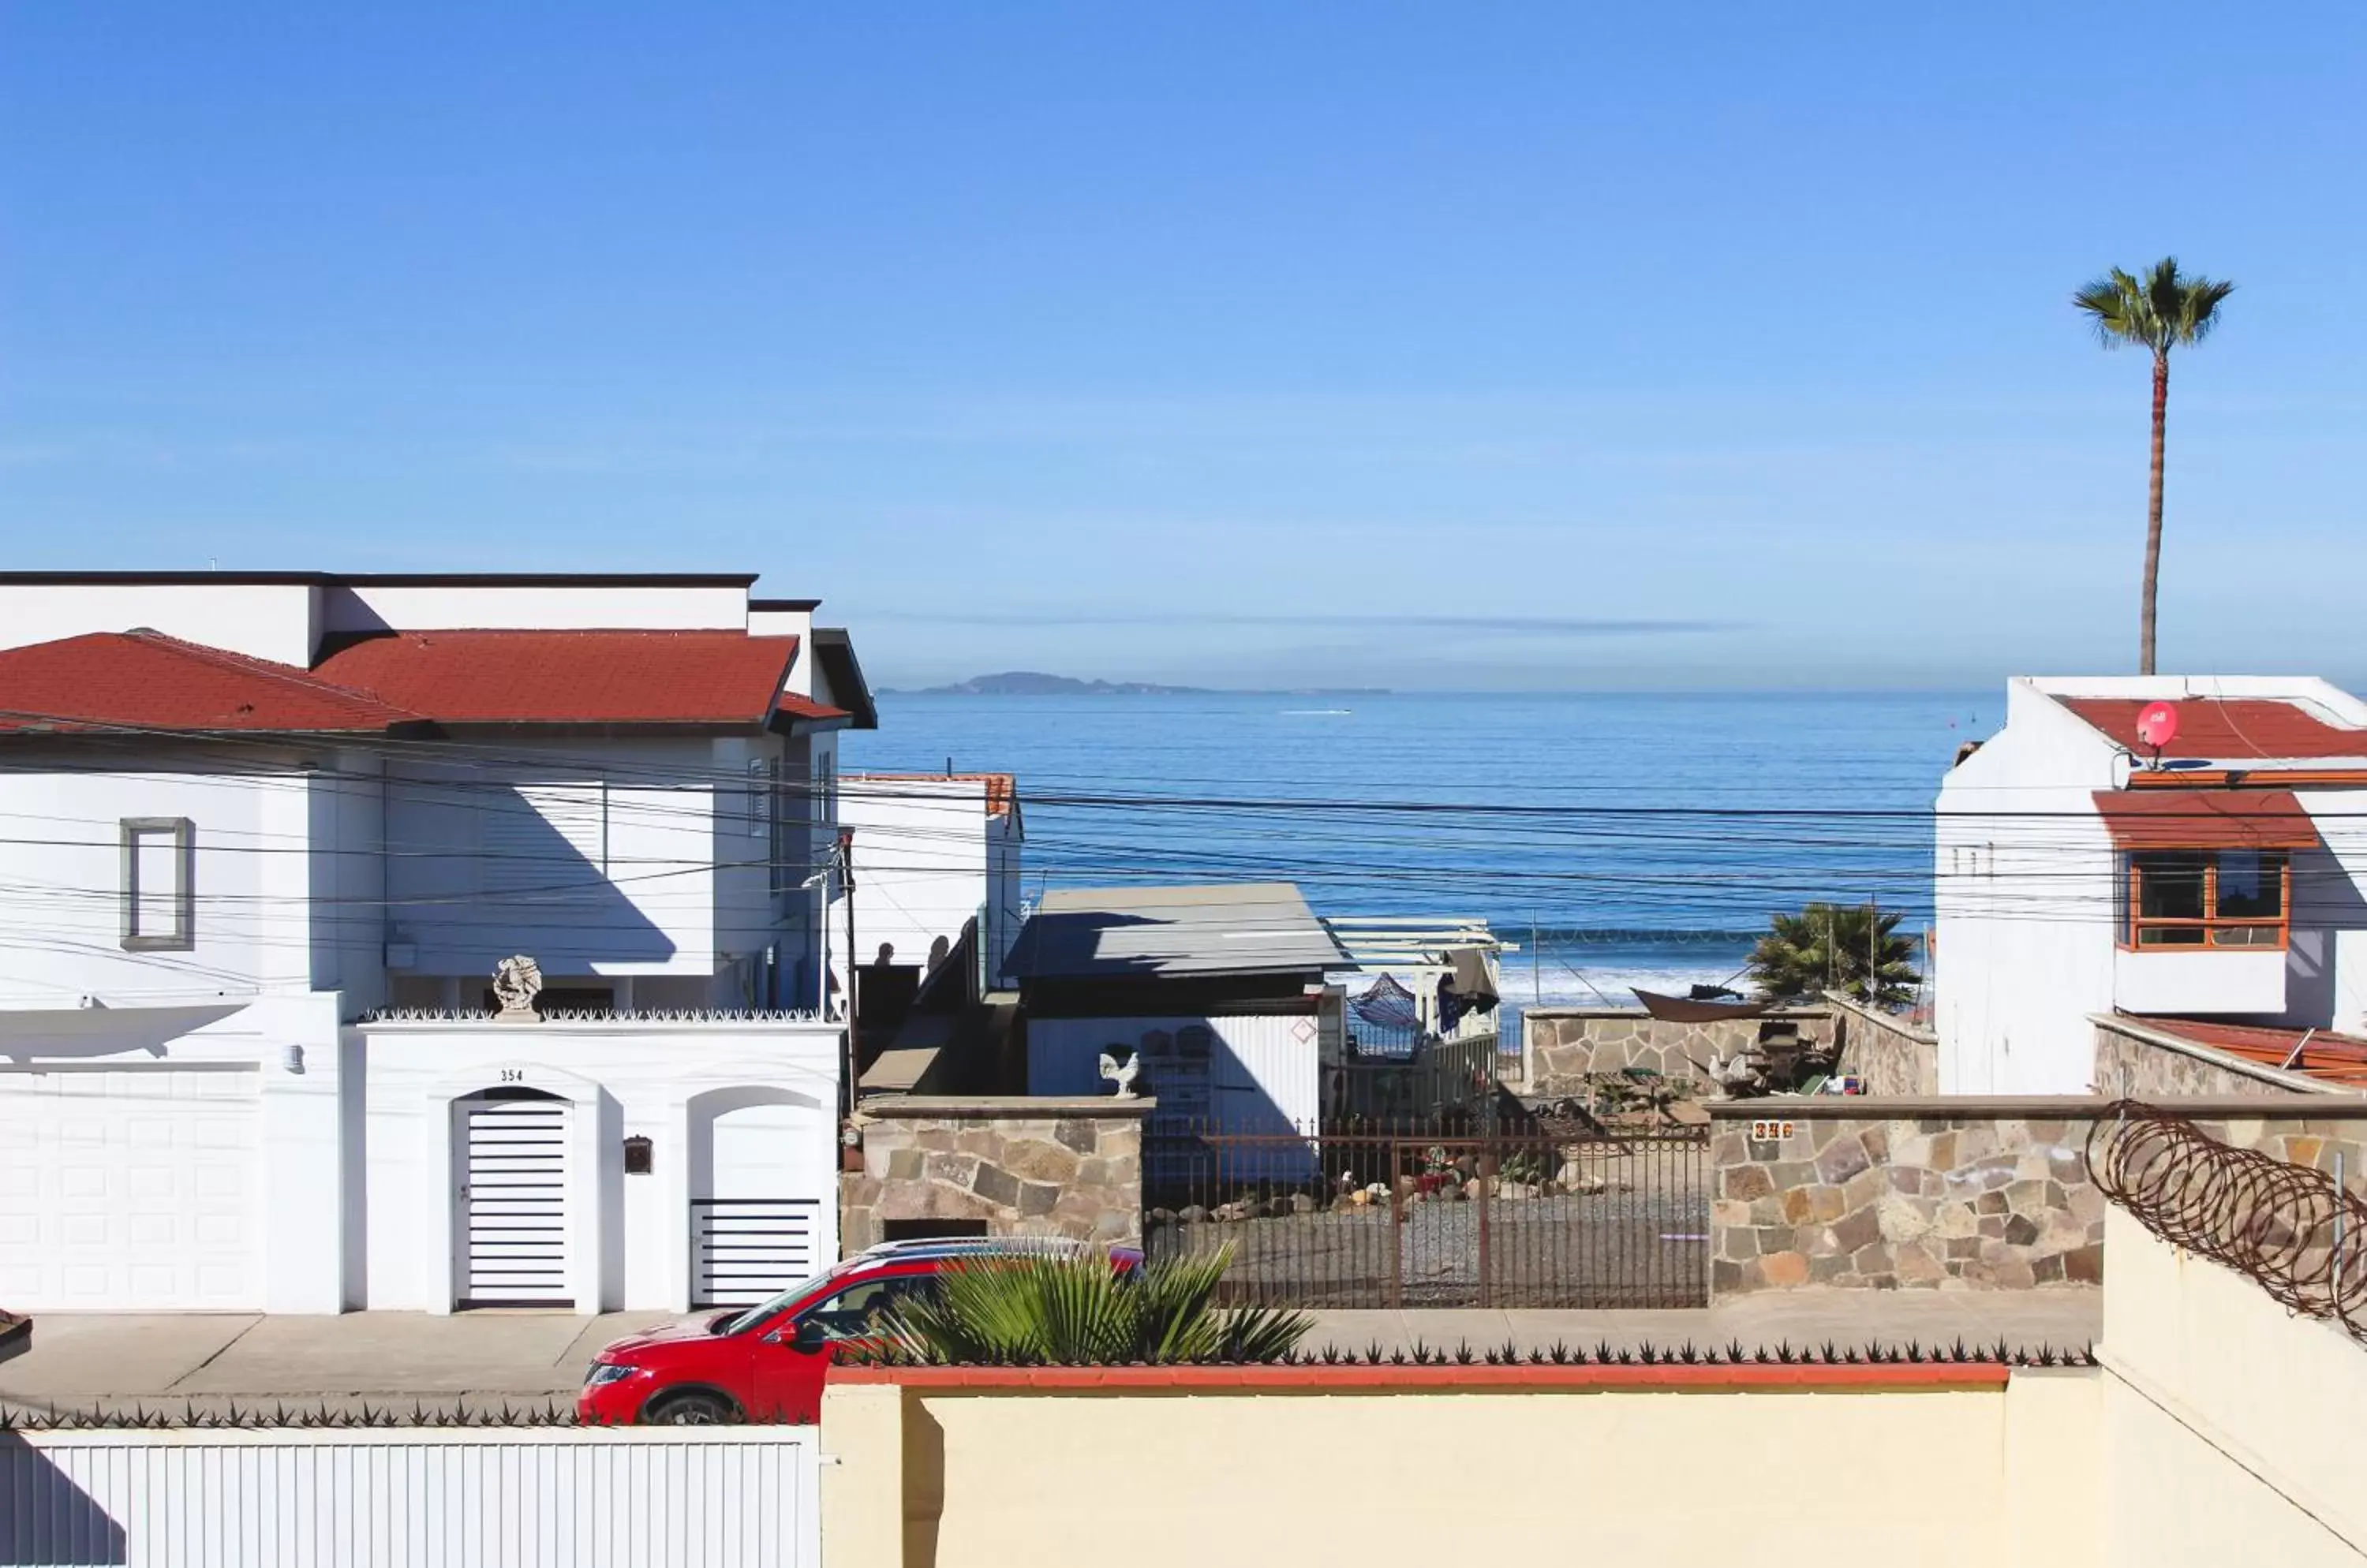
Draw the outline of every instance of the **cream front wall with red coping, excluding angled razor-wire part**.
<instances>
[{"instance_id":1,"label":"cream front wall with red coping, excluding angled razor-wire part","mask_svg":"<svg viewBox=\"0 0 2367 1568\"><path fill-rule=\"evenodd\" d=\"M2092 1372L1766 1372L843 1369L824 1561L2097 1561Z\"/></svg>"}]
</instances>

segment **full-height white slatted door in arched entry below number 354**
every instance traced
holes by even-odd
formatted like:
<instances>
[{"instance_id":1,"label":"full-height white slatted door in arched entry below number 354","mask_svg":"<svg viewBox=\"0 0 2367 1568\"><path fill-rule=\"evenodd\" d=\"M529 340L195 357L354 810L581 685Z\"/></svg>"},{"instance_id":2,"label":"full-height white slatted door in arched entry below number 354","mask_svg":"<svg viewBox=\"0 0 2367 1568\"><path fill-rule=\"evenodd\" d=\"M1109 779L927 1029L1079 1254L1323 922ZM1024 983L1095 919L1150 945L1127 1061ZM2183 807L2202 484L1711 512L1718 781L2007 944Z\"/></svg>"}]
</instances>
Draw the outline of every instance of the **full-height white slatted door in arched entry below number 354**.
<instances>
[{"instance_id":1,"label":"full-height white slatted door in arched entry below number 354","mask_svg":"<svg viewBox=\"0 0 2367 1568\"><path fill-rule=\"evenodd\" d=\"M575 1305L568 1289L568 1119L530 1088L452 1102L459 1305Z\"/></svg>"}]
</instances>

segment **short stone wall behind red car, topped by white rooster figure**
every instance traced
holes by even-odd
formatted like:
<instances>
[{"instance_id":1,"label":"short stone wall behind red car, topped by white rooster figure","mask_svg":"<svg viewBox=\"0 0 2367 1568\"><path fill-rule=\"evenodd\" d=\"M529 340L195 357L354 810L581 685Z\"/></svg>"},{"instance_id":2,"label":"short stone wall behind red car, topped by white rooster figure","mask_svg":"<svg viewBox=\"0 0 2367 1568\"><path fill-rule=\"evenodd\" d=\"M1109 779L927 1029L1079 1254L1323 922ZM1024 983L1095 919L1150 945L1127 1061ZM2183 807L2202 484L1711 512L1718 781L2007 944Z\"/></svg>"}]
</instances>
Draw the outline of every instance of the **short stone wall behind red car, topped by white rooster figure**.
<instances>
[{"instance_id":1,"label":"short stone wall behind red car, topped by white rooster figure","mask_svg":"<svg viewBox=\"0 0 2367 1568\"><path fill-rule=\"evenodd\" d=\"M847 1253L888 1220L982 1220L994 1237L1141 1242L1153 1100L866 1100L862 1171L838 1178Z\"/></svg>"}]
</instances>

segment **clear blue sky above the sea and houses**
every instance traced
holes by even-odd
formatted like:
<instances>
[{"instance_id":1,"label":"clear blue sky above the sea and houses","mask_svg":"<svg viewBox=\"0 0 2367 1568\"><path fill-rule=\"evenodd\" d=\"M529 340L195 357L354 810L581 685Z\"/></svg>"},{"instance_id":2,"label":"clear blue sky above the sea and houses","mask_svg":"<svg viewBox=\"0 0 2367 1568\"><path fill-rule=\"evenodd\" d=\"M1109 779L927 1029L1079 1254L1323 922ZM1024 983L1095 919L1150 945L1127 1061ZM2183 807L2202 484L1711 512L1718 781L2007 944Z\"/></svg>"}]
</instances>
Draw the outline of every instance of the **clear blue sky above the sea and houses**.
<instances>
[{"instance_id":1,"label":"clear blue sky above the sea and houses","mask_svg":"<svg viewBox=\"0 0 2367 1568\"><path fill-rule=\"evenodd\" d=\"M1586 14L1600 12L1600 14ZM2367 12L9 5L17 568L762 570L890 683L2367 676Z\"/></svg>"}]
</instances>

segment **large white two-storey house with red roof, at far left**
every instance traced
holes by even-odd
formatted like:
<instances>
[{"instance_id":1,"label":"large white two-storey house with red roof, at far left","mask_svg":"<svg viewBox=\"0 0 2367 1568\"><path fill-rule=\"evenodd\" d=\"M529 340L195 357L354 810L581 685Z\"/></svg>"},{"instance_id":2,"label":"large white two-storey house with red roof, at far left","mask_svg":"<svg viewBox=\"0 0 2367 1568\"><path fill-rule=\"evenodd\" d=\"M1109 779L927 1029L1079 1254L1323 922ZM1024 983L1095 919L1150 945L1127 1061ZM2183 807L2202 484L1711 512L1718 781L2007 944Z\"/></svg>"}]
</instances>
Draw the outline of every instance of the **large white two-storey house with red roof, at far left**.
<instances>
[{"instance_id":1,"label":"large white two-storey house with red roof, at far left","mask_svg":"<svg viewBox=\"0 0 2367 1568\"><path fill-rule=\"evenodd\" d=\"M746 575L0 575L0 1301L686 1308L836 1256L845 634ZM540 1022L488 1017L509 955Z\"/></svg>"}]
</instances>

